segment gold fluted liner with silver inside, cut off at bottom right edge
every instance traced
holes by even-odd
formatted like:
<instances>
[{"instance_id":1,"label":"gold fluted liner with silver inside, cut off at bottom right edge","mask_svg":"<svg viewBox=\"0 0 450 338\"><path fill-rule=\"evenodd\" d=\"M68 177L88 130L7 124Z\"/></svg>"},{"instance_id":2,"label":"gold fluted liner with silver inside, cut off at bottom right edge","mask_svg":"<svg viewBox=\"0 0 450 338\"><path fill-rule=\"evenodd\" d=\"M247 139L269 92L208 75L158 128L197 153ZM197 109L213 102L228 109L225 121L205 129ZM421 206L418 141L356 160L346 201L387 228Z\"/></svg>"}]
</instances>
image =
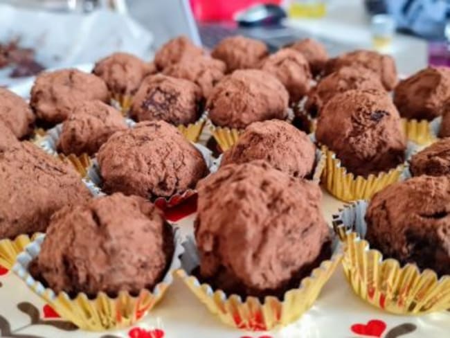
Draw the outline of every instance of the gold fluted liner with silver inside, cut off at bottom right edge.
<instances>
[{"instance_id":1,"label":"gold fluted liner with silver inside, cut off at bottom right edge","mask_svg":"<svg viewBox=\"0 0 450 338\"><path fill-rule=\"evenodd\" d=\"M395 314L425 314L450 308L450 276L430 269L400 265L384 259L363 240L368 202L358 201L333 216L333 225L344 243L343 269L354 292L375 307Z\"/></svg>"}]
</instances>

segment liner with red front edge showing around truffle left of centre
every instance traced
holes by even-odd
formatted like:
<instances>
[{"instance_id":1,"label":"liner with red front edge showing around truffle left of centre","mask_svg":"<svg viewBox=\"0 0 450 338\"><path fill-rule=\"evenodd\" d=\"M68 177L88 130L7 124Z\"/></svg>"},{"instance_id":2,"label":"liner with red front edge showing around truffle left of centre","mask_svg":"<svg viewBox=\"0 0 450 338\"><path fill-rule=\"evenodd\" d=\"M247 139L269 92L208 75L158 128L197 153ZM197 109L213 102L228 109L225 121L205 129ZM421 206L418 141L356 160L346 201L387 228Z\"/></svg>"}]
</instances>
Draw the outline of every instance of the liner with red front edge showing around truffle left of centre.
<instances>
[{"instance_id":1,"label":"liner with red front edge showing around truffle left of centre","mask_svg":"<svg viewBox=\"0 0 450 338\"><path fill-rule=\"evenodd\" d=\"M204 145L201 145L199 143L193 143L195 148L201 152L201 155L203 156L206 166L211 171L213 170L215 166L215 159L213 159L213 153L206 148ZM89 163L89 166L84 167L84 170L86 171L86 178L88 181L92 181L94 186L101 187L103 184L102 175L100 173L100 167L98 166L98 161L96 159L93 159L91 163ZM101 189L100 189L101 191ZM194 189L188 189L183 192L174 194L170 197L156 197L156 199L153 200L154 204L158 206L161 209L165 208L172 208L173 206L177 206L181 202L185 201L192 195L195 195L197 193L197 190Z\"/></svg>"}]
</instances>

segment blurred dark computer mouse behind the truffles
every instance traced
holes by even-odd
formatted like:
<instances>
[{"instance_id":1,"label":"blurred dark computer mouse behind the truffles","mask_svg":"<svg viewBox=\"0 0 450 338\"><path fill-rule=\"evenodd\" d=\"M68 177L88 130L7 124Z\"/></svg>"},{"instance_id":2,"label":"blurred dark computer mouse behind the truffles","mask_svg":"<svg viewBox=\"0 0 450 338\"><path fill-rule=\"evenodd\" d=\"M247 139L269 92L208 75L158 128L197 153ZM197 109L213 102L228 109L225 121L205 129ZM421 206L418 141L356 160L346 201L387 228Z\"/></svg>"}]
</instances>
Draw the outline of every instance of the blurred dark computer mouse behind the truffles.
<instances>
[{"instance_id":1,"label":"blurred dark computer mouse behind the truffles","mask_svg":"<svg viewBox=\"0 0 450 338\"><path fill-rule=\"evenodd\" d=\"M280 6L271 3L255 5L237 12L234 16L239 26L269 26L280 24L286 12Z\"/></svg>"}]
</instances>

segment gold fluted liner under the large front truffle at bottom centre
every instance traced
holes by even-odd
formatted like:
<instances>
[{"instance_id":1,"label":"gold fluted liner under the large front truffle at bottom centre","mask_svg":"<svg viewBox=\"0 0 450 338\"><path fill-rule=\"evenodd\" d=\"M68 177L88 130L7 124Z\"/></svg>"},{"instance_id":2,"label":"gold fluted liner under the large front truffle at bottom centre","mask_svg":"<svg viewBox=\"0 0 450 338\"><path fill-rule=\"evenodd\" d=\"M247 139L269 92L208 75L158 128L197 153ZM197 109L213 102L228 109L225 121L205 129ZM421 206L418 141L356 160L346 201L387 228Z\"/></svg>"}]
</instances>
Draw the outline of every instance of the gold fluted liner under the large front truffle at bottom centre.
<instances>
[{"instance_id":1,"label":"gold fluted liner under the large front truffle at bottom centre","mask_svg":"<svg viewBox=\"0 0 450 338\"><path fill-rule=\"evenodd\" d=\"M253 296L248 296L243 301L240 296L226 295L222 290L213 290L210 285L202 284L197 277L190 275L199 265L195 240L188 237L183 246L185 247L185 253L181 256L183 269L179 269L177 274L189 290L223 323L242 330L253 331L286 326L300 318L316 301L322 287L330 279L342 257L339 244L335 241L332 258L324 260L310 276L303 278L297 289L287 291L283 300L267 296L261 303Z\"/></svg>"}]
</instances>

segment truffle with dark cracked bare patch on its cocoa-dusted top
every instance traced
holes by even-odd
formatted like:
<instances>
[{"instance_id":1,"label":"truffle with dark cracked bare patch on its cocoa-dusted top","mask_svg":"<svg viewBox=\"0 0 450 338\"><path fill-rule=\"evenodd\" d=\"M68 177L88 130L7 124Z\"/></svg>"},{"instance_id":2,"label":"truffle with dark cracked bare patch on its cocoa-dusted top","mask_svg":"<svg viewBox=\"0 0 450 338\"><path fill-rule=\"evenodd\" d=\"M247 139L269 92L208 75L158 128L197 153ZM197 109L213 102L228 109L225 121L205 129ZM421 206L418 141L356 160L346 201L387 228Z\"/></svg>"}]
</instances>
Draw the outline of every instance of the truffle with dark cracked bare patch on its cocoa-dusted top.
<instances>
[{"instance_id":1,"label":"truffle with dark cracked bare patch on its cocoa-dusted top","mask_svg":"<svg viewBox=\"0 0 450 338\"><path fill-rule=\"evenodd\" d=\"M162 74L144 79L129 112L137 121L163 120L188 125L202 113L201 89L194 82Z\"/></svg>"}]
</instances>

